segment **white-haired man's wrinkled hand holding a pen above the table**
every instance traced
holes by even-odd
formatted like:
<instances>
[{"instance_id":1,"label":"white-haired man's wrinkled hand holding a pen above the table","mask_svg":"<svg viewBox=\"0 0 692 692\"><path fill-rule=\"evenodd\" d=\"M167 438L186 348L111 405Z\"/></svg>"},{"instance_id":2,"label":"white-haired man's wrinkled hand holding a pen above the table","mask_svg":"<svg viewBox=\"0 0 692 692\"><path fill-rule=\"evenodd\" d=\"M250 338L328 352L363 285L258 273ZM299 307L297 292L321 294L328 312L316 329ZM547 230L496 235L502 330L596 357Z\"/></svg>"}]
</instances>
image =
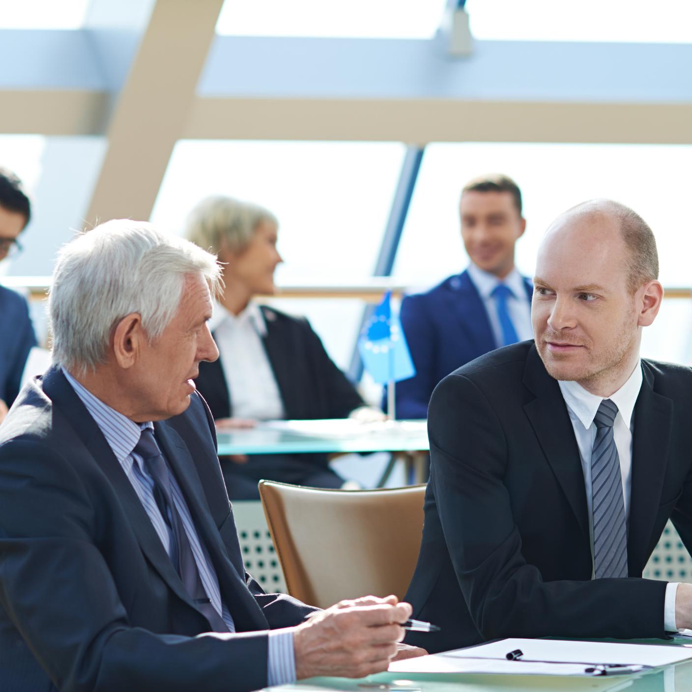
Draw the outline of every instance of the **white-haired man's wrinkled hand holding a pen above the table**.
<instances>
[{"instance_id":1,"label":"white-haired man's wrinkled hand holding a pen above the table","mask_svg":"<svg viewBox=\"0 0 692 692\"><path fill-rule=\"evenodd\" d=\"M365 677L386 671L411 617L397 597L341 601L295 628L293 649L298 680L316 675Z\"/></svg>"}]
</instances>

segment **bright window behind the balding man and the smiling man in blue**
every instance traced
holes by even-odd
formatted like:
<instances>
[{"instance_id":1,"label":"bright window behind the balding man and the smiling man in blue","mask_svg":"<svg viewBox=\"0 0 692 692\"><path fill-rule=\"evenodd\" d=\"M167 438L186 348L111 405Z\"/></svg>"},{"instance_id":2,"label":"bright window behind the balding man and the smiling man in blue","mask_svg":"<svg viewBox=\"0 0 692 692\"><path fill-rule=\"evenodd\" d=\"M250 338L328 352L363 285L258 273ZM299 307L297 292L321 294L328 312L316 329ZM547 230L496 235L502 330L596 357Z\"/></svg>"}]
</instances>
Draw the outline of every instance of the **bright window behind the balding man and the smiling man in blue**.
<instances>
[{"instance_id":1,"label":"bright window behind the balding man and the smiling man in blue","mask_svg":"<svg viewBox=\"0 0 692 692\"><path fill-rule=\"evenodd\" d=\"M534 272L540 239L559 213L586 199L610 197L637 210L653 228L664 285L690 286L691 166L688 145L429 145L394 275L422 287L461 271L468 257L459 235L459 191L476 174L500 171L517 181L524 196L527 230L517 245L522 273ZM688 301L667 300L655 326L644 330L644 353L688 362L691 327Z\"/></svg>"}]
</instances>

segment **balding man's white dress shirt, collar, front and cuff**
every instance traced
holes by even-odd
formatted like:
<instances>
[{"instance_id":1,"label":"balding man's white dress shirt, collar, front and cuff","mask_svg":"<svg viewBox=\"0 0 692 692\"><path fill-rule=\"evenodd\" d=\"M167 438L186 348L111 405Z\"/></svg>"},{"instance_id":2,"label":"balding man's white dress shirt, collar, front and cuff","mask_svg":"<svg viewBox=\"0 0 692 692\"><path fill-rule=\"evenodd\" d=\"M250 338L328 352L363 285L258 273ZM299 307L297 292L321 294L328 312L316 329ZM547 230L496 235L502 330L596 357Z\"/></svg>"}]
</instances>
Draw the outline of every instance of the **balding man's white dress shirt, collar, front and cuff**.
<instances>
[{"instance_id":1,"label":"balding man's white dress shirt, collar, front and cuff","mask_svg":"<svg viewBox=\"0 0 692 692\"><path fill-rule=\"evenodd\" d=\"M608 397L617 406L617 416L612 426L612 435L617 447L617 455L620 459L620 475L622 477L622 495L625 502L625 516L629 524L630 520L630 495L632 489L632 431L635 429L635 403L641 389L643 376L641 374L641 361L632 370L628 381L617 392ZM586 504L589 510L589 535L591 538L591 555L594 554L594 520L592 516L592 490L591 490L591 452L596 439L596 424L594 418L601 406L603 397L587 392L576 382L558 381L562 392L567 412L570 414L572 428L576 444L579 446L581 468L584 473L584 485L586 489ZM592 572L592 579L594 574ZM664 628L666 632L675 632L675 594L677 583L669 583L666 587L666 600L664 605Z\"/></svg>"}]
</instances>

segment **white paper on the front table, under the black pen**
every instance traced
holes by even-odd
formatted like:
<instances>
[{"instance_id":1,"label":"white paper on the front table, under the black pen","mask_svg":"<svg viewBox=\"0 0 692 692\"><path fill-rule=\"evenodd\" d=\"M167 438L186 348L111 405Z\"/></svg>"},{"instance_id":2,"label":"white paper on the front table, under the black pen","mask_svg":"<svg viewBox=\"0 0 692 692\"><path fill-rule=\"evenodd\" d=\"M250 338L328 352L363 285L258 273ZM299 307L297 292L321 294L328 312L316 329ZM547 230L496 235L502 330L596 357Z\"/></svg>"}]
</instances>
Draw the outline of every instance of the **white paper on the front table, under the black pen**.
<instances>
[{"instance_id":1,"label":"white paper on the front table, under the black pen","mask_svg":"<svg viewBox=\"0 0 692 692\"><path fill-rule=\"evenodd\" d=\"M523 661L507 661L521 649ZM397 673L495 673L512 675L587 675L585 667L605 663L666 666L692 658L687 646L610 644L561 639L502 639L490 644L406 659L391 664ZM538 661L539 663L531 663ZM562 662L562 663L561 663ZM576 664L576 665L573 665Z\"/></svg>"}]
</instances>

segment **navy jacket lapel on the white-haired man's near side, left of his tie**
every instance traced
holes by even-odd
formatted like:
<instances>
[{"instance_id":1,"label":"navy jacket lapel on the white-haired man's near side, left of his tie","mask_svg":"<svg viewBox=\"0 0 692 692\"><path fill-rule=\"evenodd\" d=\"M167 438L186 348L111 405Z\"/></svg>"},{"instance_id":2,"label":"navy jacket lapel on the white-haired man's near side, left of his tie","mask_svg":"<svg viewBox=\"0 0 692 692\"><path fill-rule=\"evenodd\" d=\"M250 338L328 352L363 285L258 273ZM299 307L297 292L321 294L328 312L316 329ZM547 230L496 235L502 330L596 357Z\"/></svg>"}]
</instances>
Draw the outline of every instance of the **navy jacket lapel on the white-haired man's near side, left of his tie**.
<instances>
[{"instance_id":1,"label":"navy jacket lapel on the white-haired man's near side, left of his tie","mask_svg":"<svg viewBox=\"0 0 692 692\"><path fill-rule=\"evenodd\" d=\"M55 368L51 368L44 378L44 392L50 397L75 434L80 438L93 460L106 475L113 491L120 502L122 511L127 517L143 554L158 572L161 579L167 583L175 594L194 605L183 588L177 572L174 570L161 539L152 525L143 504L132 487L120 462L113 454L110 445L103 436L100 428L86 410L86 407L71 387L65 376Z\"/></svg>"}]
</instances>

